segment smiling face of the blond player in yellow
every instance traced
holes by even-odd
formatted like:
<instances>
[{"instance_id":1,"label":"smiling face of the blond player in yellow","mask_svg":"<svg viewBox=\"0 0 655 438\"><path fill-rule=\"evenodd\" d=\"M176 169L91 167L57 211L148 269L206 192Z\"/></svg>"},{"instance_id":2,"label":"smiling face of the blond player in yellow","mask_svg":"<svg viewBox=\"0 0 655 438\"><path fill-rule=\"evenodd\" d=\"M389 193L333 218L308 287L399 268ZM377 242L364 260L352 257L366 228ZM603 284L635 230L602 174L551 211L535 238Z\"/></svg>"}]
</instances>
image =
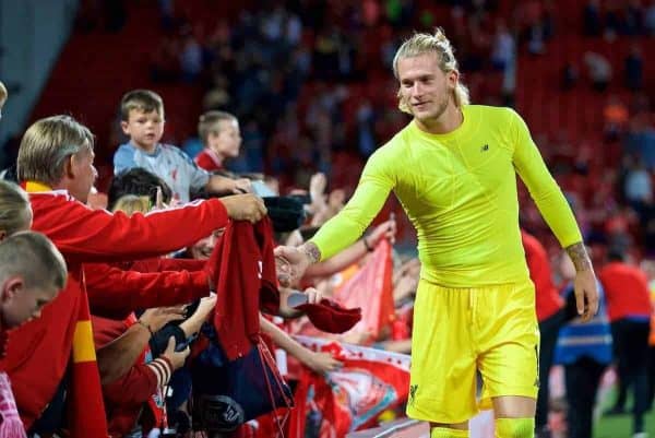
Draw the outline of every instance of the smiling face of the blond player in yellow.
<instances>
[{"instance_id":1,"label":"smiling face of the blond player in yellow","mask_svg":"<svg viewBox=\"0 0 655 438\"><path fill-rule=\"evenodd\" d=\"M401 106L424 126L438 121L452 102L457 72L444 73L437 54L402 58L397 63Z\"/></svg>"}]
</instances>

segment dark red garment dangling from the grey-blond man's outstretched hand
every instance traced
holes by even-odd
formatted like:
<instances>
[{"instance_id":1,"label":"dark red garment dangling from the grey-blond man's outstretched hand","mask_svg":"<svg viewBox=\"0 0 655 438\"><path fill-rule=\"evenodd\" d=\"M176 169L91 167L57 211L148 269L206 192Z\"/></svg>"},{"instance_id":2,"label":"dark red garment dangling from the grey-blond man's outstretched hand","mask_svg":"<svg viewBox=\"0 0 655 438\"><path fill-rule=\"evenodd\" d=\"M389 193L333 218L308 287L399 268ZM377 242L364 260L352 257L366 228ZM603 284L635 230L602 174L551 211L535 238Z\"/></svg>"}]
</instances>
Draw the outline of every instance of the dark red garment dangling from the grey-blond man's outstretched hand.
<instances>
[{"instance_id":1,"label":"dark red garment dangling from the grey-blond man's outstretched hand","mask_svg":"<svg viewBox=\"0 0 655 438\"><path fill-rule=\"evenodd\" d=\"M216 263L217 257L218 298L214 325L225 354L234 360L250 351L260 331L262 298L267 303L277 299L279 304L271 221L264 217L255 225L231 223L214 248L209 263Z\"/></svg>"}]
</instances>

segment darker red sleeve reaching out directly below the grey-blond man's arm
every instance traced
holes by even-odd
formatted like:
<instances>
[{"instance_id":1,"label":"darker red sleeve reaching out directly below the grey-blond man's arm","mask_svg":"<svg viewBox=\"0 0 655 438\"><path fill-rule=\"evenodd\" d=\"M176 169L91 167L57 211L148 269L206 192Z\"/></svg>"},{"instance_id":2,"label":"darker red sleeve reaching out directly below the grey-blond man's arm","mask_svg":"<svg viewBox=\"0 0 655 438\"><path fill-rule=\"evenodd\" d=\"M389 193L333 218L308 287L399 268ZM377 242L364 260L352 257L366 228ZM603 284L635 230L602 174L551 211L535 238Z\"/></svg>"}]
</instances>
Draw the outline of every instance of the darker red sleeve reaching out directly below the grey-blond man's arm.
<instances>
[{"instance_id":1,"label":"darker red sleeve reaching out directly below the grey-blond man's arm","mask_svg":"<svg viewBox=\"0 0 655 438\"><path fill-rule=\"evenodd\" d=\"M126 318L135 309L191 303L210 294L204 271L123 271L103 263L85 263L88 306L93 315Z\"/></svg>"}]
</instances>

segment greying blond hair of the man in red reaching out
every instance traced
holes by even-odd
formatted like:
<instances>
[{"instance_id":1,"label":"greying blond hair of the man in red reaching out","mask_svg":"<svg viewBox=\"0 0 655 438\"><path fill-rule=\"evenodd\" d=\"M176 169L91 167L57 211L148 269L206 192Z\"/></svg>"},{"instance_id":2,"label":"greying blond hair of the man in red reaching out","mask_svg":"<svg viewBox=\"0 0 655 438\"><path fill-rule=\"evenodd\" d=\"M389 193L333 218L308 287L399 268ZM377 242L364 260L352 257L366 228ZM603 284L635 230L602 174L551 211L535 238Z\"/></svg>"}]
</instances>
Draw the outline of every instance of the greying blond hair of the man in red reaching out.
<instances>
[{"instance_id":1,"label":"greying blond hair of the man in red reaching out","mask_svg":"<svg viewBox=\"0 0 655 438\"><path fill-rule=\"evenodd\" d=\"M21 140L16 168L20 181L53 186L63 177L66 161L81 151L93 151L93 134L70 116L35 121Z\"/></svg>"}]
</instances>

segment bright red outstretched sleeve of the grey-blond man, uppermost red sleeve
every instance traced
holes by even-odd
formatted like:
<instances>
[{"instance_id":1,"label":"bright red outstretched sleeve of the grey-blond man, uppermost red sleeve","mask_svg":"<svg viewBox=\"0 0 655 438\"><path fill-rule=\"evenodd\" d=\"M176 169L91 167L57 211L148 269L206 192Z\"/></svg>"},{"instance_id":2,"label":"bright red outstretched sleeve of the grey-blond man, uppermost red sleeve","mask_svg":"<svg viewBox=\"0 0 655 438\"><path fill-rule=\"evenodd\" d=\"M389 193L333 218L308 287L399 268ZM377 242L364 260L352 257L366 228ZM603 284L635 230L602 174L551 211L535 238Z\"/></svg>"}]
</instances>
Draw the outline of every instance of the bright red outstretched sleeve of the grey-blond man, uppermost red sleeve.
<instances>
[{"instance_id":1,"label":"bright red outstretched sleeve of the grey-blond man, uppermost red sleeve","mask_svg":"<svg viewBox=\"0 0 655 438\"><path fill-rule=\"evenodd\" d=\"M228 223L217 200L127 216L86 205L60 193L32 193L33 229L52 240L67 260L109 262L160 256L187 247Z\"/></svg>"}]
</instances>

